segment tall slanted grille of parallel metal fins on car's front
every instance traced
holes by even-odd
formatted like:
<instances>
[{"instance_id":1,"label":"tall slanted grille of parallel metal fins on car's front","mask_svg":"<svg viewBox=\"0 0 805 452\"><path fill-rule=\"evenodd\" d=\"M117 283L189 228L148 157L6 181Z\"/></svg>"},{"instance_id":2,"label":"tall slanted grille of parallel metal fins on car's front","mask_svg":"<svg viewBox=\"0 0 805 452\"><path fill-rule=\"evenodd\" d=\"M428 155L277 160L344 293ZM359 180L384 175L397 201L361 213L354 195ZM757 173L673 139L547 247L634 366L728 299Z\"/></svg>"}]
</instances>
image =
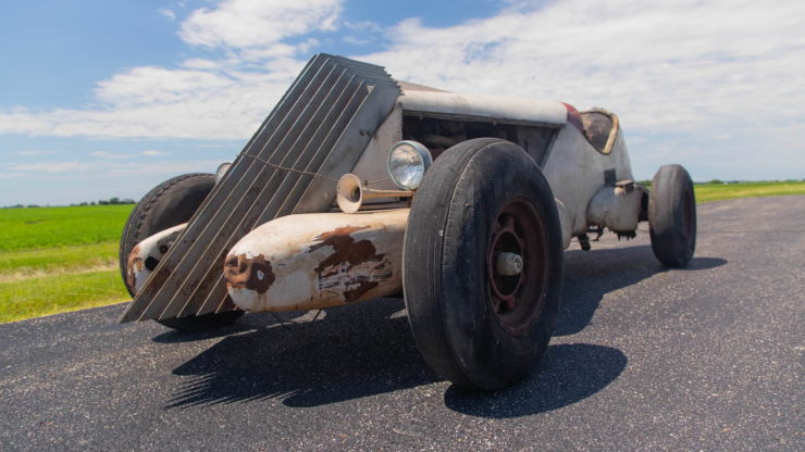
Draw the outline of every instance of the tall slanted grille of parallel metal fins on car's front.
<instances>
[{"instance_id":1,"label":"tall slanted grille of parallel metal fins on car's front","mask_svg":"<svg viewBox=\"0 0 805 452\"><path fill-rule=\"evenodd\" d=\"M331 179L355 166L399 95L383 67L327 54L313 56L120 322L234 309L223 280L228 250L270 219L327 211L335 199ZM320 192L306 196L312 188Z\"/></svg>"}]
</instances>

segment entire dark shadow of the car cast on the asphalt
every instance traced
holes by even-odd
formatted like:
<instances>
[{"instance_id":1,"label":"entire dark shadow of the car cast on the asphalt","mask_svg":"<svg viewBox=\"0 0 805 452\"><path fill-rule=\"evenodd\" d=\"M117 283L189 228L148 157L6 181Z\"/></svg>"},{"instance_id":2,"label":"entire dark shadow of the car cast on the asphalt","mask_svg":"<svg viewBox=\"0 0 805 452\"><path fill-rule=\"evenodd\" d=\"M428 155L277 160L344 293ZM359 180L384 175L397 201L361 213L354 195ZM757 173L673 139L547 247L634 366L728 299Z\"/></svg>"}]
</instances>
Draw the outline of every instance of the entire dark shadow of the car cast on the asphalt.
<instances>
[{"instance_id":1,"label":"entire dark shadow of the car cast on the asphalt","mask_svg":"<svg viewBox=\"0 0 805 452\"><path fill-rule=\"evenodd\" d=\"M565 304L557 335L590 323L604 294L665 269L648 247L566 253ZM691 269L726 263L697 258ZM325 311L322 318L298 313L277 323L270 314L247 314L221 339L173 371L183 377L165 409L280 400L286 406L318 406L429 385L443 379L424 363L411 336L403 300L383 299ZM174 342L220 334L165 332ZM485 417L510 417L555 410L602 390L623 371L627 356L604 346L550 346L531 377L504 391L471 393L455 386L448 407Z\"/></svg>"}]
</instances>

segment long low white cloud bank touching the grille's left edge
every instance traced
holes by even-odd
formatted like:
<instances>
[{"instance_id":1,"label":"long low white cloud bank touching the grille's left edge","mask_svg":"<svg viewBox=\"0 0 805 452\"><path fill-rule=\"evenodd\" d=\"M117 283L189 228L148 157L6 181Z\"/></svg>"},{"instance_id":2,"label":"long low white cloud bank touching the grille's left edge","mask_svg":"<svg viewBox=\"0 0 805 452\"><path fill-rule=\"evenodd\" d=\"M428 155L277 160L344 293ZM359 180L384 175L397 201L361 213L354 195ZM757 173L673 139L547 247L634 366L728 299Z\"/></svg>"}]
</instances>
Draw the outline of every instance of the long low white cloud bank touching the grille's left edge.
<instances>
[{"instance_id":1,"label":"long low white cloud bank touching the grille's left edge","mask_svg":"<svg viewBox=\"0 0 805 452\"><path fill-rule=\"evenodd\" d=\"M255 131L293 80L292 73L300 67L301 63L294 62L290 72L264 76L243 73L230 85L199 86L196 90L162 89L147 78L121 77L107 90L121 96L110 97L110 103L102 108L0 114L0 134L242 139ZM154 86L165 98L148 89L137 91L135 86Z\"/></svg>"}]
</instances>

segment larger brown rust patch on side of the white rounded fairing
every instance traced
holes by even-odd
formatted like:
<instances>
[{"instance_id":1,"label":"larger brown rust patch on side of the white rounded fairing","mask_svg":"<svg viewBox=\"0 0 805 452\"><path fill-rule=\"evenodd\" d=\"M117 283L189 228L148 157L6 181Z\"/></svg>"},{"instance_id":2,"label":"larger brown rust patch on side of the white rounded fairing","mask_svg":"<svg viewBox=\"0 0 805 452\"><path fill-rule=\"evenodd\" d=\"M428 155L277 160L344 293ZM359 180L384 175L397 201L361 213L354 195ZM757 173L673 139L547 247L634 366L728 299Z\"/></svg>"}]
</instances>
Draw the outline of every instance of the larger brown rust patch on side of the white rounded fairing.
<instances>
[{"instance_id":1,"label":"larger brown rust patch on side of the white rounded fairing","mask_svg":"<svg viewBox=\"0 0 805 452\"><path fill-rule=\"evenodd\" d=\"M374 243L351 237L352 233L368 228L340 227L315 238L321 243L310 247L310 251L323 247L334 250L315 267L320 291L340 292L349 303L392 277L391 262L382 253L377 254Z\"/></svg>"}]
</instances>

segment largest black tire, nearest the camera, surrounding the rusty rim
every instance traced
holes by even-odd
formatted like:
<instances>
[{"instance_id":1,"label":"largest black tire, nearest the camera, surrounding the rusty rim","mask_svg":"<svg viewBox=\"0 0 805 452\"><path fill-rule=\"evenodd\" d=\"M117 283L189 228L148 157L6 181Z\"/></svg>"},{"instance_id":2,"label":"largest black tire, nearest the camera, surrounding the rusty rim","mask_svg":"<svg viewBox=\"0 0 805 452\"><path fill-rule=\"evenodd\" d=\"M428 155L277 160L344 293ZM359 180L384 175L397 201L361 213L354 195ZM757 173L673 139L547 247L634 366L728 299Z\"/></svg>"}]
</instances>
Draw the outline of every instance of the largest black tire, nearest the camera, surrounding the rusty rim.
<instances>
[{"instance_id":1,"label":"largest black tire, nearest the camera, surrounding the rusty rim","mask_svg":"<svg viewBox=\"0 0 805 452\"><path fill-rule=\"evenodd\" d=\"M498 213L511 200L533 206L538 218L533 230L544 244L538 259L523 253L523 273L540 268L534 293L541 296L523 303L540 307L524 316L517 332L493 306L487 262ZM469 389L500 389L525 376L548 346L562 285L559 216L534 161L496 138L445 151L413 199L404 248L406 307L425 362ZM523 287L534 290L534 284Z\"/></svg>"}]
</instances>

